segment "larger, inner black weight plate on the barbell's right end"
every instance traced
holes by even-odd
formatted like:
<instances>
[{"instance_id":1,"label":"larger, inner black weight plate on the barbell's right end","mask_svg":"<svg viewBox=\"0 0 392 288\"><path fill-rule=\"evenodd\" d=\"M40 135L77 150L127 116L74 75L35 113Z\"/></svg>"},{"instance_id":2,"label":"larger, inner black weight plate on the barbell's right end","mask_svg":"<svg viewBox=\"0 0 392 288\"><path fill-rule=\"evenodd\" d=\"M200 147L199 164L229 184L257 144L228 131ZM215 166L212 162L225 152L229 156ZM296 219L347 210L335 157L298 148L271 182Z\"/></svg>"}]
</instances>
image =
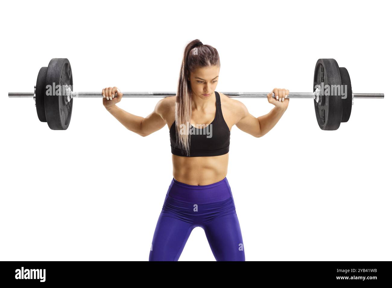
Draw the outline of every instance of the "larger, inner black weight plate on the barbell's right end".
<instances>
[{"instance_id":1,"label":"larger, inner black weight plate on the barbell's right end","mask_svg":"<svg viewBox=\"0 0 392 288\"><path fill-rule=\"evenodd\" d=\"M332 95L333 85L341 85L339 65L334 59L319 59L314 69L313 91L321 82L330 87L330 95L322 95L321 101L314 99L314 110L319 127L322 130L337 130L342 118L342 99L339 95ZM340 91L340 90L339 90ZM323 93L325 92L322 91Z\"/></svg>"}]
</instances>

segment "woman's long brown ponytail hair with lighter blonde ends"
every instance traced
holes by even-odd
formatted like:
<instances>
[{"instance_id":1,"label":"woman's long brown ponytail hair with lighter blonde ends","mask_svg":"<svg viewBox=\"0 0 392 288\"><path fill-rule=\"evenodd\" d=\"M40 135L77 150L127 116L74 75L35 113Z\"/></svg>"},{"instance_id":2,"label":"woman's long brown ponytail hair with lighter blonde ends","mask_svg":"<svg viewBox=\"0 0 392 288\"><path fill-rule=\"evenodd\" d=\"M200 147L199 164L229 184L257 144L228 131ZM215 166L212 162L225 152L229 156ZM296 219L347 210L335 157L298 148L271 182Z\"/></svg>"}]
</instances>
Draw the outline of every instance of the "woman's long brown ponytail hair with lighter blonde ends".
<instances>
[{"instance_id":1,"label":"woman's long brown ponytail hair with lighter blonde ends","mask_svg":"<svg viewBox=\"0 0 392 288\"><path fill-rule=\"evenodd\" d=\"M185 150L187 156L190 154L189 123L192 115L192 89L188 77L191 76L191 71L194 71L194 69L214 65L220 67L219 54L214 47L204 45L199 39L187 44L181 63L180 77L178 78L175 112L176 134L179 135L177 143L180 149ZM180 133L181 124L185 125L186 133Z\"/></svg>"}]
</instances>

